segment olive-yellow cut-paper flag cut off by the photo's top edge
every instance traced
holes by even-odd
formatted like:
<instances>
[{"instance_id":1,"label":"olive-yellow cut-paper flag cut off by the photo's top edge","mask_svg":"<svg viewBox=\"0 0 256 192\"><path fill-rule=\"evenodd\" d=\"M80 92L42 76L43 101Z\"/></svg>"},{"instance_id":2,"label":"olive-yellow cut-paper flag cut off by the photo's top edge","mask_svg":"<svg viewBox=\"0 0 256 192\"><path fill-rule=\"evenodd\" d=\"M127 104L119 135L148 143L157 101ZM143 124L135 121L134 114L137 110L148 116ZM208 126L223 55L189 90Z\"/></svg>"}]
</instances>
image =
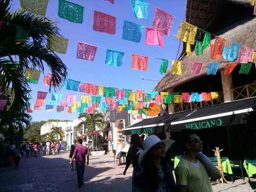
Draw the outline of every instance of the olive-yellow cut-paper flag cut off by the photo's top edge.
<instances>
[{"instance_id":1,"label":"olive-yellow cut-paper flag cut off by the photo's top edge","mask_svg":"<svg viewBox=\"0 0 256 192\"><path fill-rule=\"evenodd\" d=\"M21 8L31 13L45 16L49 0L20 0Z\"/></svg>"}]
</instances>

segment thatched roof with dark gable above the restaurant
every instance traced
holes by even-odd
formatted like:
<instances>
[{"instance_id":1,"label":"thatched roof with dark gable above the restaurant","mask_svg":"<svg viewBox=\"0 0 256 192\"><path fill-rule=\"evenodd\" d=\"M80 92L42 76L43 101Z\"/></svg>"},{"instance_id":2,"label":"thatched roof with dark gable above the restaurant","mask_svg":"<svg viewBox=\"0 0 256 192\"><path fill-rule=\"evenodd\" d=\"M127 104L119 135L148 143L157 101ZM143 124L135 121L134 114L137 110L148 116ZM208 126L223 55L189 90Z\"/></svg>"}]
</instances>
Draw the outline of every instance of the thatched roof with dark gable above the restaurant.
<instances>
[{"instance_id":1,"label":"thatched roof with dark gable above the restaurant","mask_svg":"<svg viewBox=\"0 0 256 192\"><path fill-rule=\"evenodd\" d=\"M255 24L256 18L253 16L253 7L249 0L187 0L186 22L197 26L199 29L205 30L212 34L218 35L226 39L225 46L230 47L231 41L240 43L241 48L244 46L256 49ZM246 1L246 2L245 2ZM237 4L240 3L240 4ZM246 5L246 6L245 6ZM232 10L227 12L228 10ZM238 11L239 10L239 11ZM225 18L225 19L224 19ZM197 40L202 40L204 34L197 30ZM212 35L211 44L214 44L214 36ZM182 75L170 75L168 71L158 82L154 91L166 91L177 87L195 78L207 75L208 63L221 63L218 71L223 70L226 61L210 59L210 47L207 47L203 56L196 56L192 52L192 56L187 57L185 53L186 44L184 44L180 56L183 64ZM193 46L192 46L193 50ZM190 62L203 62L203 68L200 75L191 75Z\"/></svg>"}]
</instances>

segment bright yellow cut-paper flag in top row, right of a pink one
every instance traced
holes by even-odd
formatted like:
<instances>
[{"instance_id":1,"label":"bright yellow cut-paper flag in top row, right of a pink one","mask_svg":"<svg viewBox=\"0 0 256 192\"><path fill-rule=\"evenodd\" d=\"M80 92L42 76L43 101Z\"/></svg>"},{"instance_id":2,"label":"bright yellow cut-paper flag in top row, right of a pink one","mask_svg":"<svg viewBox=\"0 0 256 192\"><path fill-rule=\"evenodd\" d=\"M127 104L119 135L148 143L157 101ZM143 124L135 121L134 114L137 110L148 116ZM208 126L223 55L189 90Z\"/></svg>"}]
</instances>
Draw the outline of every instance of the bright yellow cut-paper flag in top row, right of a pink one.
<instances>
[{"instance_id":1,"label":"bright yellow cut-paper flag in top row, right of a pink one","mask_svg":"<svg viewBox=\"0 0 256 192\"><path fill-rule=\"evenodd\" d=\"M177 39L193 45L196 30L197 30L197 27L192 26L191 24L185 21L181 21L178 34L177 34Z\"/></svg>"}]
</instances>

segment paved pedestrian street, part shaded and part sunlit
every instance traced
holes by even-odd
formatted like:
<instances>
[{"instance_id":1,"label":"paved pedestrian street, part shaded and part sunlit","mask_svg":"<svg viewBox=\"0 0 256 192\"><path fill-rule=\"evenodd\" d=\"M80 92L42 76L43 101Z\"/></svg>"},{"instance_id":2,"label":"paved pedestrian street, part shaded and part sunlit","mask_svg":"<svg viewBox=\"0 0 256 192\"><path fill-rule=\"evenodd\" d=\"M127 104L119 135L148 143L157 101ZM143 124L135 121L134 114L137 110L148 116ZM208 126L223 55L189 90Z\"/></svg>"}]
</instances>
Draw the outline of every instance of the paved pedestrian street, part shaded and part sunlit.
<instances>
[{"instance_id":1,"label":"paved pedestrian street, part shaded and part sunlit","mask_svg":"<svg viewBox=\"0 0 256 192\"><path fill-rule=\"evenodd\" d=\"M90 156L85 169L85 188L77 188L76 172L69 165L68 152L43 157L22 157L19 170L0 167L0 192L130 192L132 167L123 175L125 165L118 166L112 155ZM226 178L230 181L230 178ZM256 179L232 184L215 184L214 192L256 192Z\"/></svg>"}]
</instances>

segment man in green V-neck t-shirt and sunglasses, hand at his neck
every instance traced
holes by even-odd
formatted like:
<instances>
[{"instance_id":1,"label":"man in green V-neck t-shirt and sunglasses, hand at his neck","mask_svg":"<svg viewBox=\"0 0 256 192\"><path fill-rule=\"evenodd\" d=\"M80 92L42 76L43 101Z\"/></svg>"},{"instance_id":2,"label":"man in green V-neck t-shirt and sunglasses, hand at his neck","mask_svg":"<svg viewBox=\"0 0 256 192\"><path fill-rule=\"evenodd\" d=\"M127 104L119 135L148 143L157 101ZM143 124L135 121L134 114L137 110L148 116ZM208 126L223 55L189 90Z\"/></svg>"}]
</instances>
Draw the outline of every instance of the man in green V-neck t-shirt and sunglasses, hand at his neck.
<instances>
[{"instance_id":1,"label":"man in green V-neck t-shirt and sunglasses, hand at his neck","mask_svg":"<svg viewBox=\"0 0 256 192\"><path fill-rule=\"evenodd\" d=\"M212 192L210 177L220 179L221 172L203 154L203 142L192 129L181 131L184 155L175 168L177 192Z\"/></svg>"}]
</instances>

